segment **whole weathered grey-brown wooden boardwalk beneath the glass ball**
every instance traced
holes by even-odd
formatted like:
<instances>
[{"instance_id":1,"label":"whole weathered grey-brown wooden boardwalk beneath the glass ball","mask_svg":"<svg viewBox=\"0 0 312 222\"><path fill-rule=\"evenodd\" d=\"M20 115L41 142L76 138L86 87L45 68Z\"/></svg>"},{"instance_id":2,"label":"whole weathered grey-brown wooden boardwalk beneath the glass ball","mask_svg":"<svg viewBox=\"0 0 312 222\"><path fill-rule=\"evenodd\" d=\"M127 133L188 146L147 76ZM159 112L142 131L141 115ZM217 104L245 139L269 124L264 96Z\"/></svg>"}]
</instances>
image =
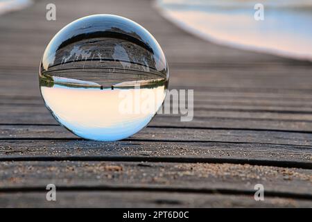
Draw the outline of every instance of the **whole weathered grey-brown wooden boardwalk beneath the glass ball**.
<instances>
[{"instance_id":1,"label":"whole weathered grey-brown wooden boardwalk beneath the glass ball","mask_svg":"<svg viewBox=\"0 0 312 222\"><path fill-rule=\"evenodd\" d=\"M200 40L153 1L55 1L54 22L46 3L0 19L1 207L312 207L312 62ZM169 88L194 89L193 121L159 114L110 143L58 126L40 97L40 58L60 28L100 13L155 36ZM45 200L51 182L56 203ZM264 202L253 199L257 183Z\"/></svg>"}]
</instances>

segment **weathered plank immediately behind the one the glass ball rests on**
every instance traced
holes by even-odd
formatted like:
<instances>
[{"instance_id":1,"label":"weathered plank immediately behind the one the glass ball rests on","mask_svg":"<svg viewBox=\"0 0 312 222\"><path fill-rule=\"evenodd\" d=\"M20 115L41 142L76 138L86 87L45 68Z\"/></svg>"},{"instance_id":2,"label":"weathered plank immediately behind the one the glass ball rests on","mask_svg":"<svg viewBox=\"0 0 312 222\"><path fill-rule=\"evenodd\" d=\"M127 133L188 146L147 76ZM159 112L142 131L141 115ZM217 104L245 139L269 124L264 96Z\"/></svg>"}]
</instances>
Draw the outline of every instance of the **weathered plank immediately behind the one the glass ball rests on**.
<instances>
[{"instance_id":1,"label":"weathered plank immediately behind the one the glass ball rests on","mask_svg":"<svg viewBox=\"0 0 312 222\"><path fill-rule=\"evenodd\" d=\"M78 139L61 126L0 126L0 139ZM244 137L241 137L244 135ZM148 127L130 137L163 142L227 142L305 146L312 153L312 133ZM183 139L181 139L183 138Z\"/></svg>"}]
</instances>

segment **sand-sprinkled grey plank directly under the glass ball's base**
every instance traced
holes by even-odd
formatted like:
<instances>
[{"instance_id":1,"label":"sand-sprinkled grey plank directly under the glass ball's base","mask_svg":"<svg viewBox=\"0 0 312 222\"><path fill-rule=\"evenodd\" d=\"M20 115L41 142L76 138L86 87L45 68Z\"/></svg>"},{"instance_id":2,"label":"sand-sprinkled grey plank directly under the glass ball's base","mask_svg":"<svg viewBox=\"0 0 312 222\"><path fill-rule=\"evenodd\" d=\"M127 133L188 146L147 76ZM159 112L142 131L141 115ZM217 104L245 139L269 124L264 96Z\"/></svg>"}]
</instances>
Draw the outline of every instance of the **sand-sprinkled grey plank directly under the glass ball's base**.
<instances>
[{"instance_id":1,"label":"sand-sprinkled grey plank directly under the glass ball's base","mask_svg":"<svg viewBox=\"0 0 312 222\"><path fill-rule=\"evenodd\" d=\"M123 160L227 162L311 169L311 151L302 146L226 142L90 142L82 140L2 140L0 160Z\"/></svg>"}]
</instances>

